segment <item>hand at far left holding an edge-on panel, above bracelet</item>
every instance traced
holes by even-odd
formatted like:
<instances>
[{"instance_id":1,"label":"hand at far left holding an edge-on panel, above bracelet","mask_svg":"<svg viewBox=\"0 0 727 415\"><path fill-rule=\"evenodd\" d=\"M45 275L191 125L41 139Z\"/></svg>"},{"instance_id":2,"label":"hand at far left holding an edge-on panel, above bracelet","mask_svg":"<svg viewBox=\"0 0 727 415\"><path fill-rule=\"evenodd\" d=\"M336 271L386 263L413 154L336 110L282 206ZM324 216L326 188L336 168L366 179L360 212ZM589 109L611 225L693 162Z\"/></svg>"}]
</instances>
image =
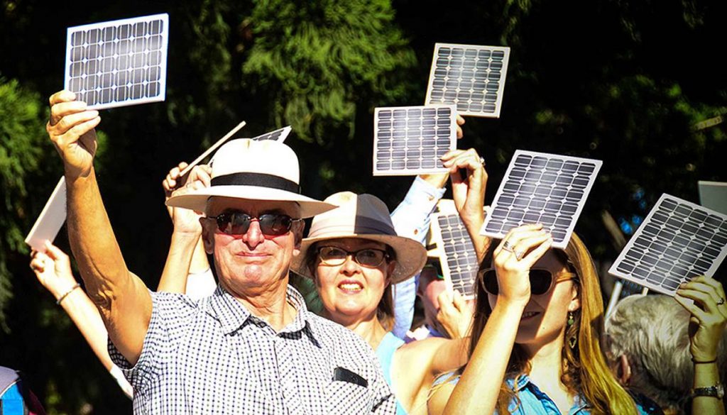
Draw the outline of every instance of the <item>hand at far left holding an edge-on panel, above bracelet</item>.
<instances>
[{"instance_id":1,"label":"hand at far left holding an edge-on panel, above bracelet","mask_svg":"<svg viewBox=\"0 0 727 415\"><path fill-rule=\"evenodd\" d=\"M46 242L46 252L31 252L31 269L38 281L50 291L55 299L76 286L76 278L71 272L71 260L63 251Z\"/></svg>"}]
</instances>

